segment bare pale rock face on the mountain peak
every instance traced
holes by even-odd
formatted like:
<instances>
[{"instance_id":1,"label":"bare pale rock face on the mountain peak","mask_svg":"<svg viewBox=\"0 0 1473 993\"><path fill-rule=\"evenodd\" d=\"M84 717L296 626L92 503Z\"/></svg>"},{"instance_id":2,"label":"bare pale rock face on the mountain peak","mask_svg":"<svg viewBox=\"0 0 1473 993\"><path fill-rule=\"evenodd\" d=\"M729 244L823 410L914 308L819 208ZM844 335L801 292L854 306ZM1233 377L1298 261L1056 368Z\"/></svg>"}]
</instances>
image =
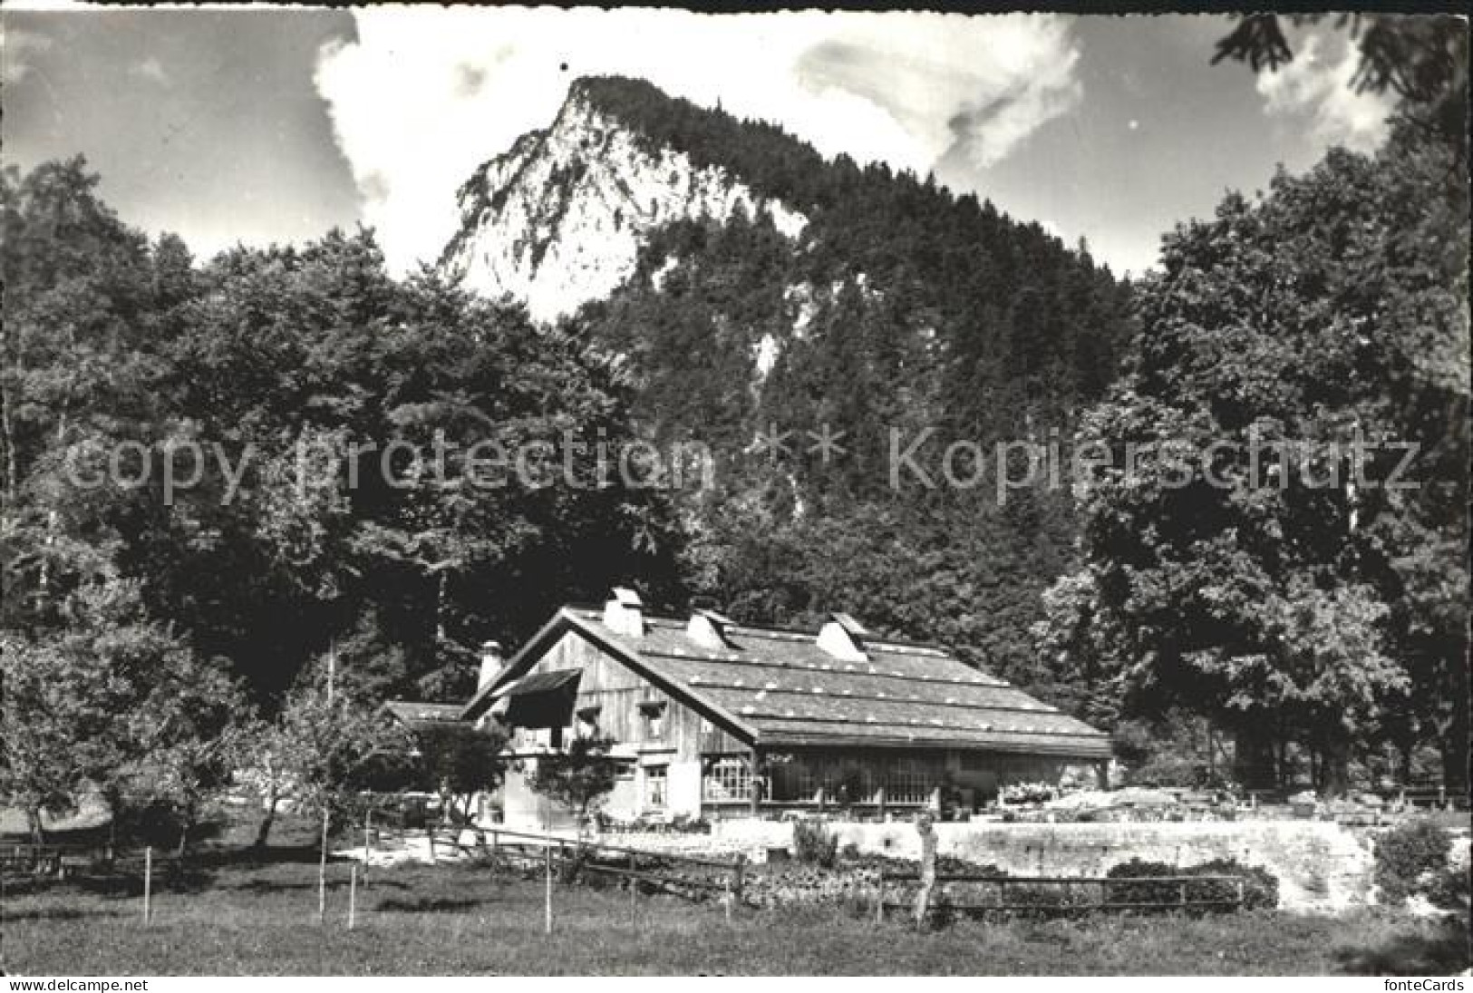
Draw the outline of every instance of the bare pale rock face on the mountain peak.
<instances>
[{"instance_id":1,"label":"bare pale rock face on the mountain peak","mask_svg":"<svg viewBox=\"0 0 1473 993\"><path fill-rule=\"evenodd\" d=\"M766 211L798 239L807 218L720 168L630 131L573 84L545 131L517 138L460 190L461 228L442 270L485 296L526 302L538 320L608 296L635 270L650 231L681 220Z\"/></svg>"}]
</instances>

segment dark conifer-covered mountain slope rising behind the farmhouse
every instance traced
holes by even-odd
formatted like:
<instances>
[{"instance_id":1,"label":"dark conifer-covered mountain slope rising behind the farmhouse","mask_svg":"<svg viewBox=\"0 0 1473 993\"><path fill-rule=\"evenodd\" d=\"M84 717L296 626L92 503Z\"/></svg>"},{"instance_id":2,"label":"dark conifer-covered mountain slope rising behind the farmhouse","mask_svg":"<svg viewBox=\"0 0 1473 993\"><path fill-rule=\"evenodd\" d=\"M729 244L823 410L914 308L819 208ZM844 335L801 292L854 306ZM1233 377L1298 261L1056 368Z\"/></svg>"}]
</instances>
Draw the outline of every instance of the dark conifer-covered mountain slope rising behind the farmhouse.
<instances>
[{"instance_id":1,"label":"dark conifer-covered mountain slope rising behind the farmhouse","mask_svg":"<svg viewBox=\"0 0 1473 993\"><path fill-rule=\"evenodd\" d=\"M990 474L894 485L891 432L904 449L934 430L932 469L953 441L990 457L1002 441L1066 438L1114 377L1128 284L972 194L826 162L642 81L583 80L570 99L807 218L795 239L762 212L667 225L577 318L629 359L647 430L717 455L716 491L689 508L692 588L748 620L848 610L1038 688L1027 629L1072 554L1068 489L999 505ZM828 461L807 451L825 426L844 449ZM773 427L790 451L753 446Z\"/></svg>"}]
</instances>

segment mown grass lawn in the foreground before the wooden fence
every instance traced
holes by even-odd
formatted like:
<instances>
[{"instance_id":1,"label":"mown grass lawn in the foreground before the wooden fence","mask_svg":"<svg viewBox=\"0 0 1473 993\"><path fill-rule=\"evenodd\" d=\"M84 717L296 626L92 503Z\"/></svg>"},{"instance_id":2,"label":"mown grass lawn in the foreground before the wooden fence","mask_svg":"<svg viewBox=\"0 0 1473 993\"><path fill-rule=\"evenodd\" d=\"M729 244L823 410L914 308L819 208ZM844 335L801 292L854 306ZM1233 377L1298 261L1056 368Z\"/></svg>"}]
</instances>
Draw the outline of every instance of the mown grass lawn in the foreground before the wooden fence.
<instances>
[{"instance_id":1,"label":"mown grass lawn in the foreground before the wooden fence","mask_svg":"<svg viewBox=\"0 0 1473 993\"><path fill-rule=\"evenodd\" d=\"M247 862L206 852L178 887L15 887L4 902L10 974L1329 974L1466 968L1467 938L1405 915L1343 918L1254 912L1203 918L1094 916L960 922L916 936L837 910L742 910L619 890L554 888L485 868L374 869L348 931L348 866L330 866L328 919L317 921L308 847Z\"/></svg>"}]
</instances>

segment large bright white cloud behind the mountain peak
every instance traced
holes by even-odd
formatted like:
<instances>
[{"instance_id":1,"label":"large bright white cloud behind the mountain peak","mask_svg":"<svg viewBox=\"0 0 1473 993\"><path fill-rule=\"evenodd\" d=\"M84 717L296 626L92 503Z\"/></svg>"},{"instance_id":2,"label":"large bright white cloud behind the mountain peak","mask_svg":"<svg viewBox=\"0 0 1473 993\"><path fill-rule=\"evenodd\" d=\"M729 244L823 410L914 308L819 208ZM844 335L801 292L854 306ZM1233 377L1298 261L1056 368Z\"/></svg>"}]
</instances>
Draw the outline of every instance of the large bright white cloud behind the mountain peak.
<instances>
[{"instance_id":1,"label":"large bright white cloud behind the mountain peak","mask_svg":"<svg viewBox=\"0 0 1473 993\"><path fill-rule=\"evenodd\" d=\"M355 19L355 41L323 50L317 87L398 270L436 258L457 187L545 127L580 75L642 77L778 122L826 156L922 174L957 146L991 165L1080 99L1078 50L1047 15L367 7Z\"/></svg>"}]
</instances>

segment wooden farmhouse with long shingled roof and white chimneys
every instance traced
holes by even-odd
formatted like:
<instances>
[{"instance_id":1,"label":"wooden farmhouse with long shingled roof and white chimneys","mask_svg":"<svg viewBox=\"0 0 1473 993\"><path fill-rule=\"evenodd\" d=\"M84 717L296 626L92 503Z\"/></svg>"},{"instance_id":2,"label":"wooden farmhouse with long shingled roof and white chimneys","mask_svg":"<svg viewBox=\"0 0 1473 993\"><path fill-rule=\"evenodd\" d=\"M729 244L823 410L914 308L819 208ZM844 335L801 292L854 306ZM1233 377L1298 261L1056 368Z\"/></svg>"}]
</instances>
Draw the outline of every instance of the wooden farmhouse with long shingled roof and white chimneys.
<instances>
[{"instance_id":1,"label":"wooden farmhouse with long shingled roof and white chimneys","mask_svg":"<svg viewBox=\"0 0 1473 993\"><path fill-rule=\"evenodd\" d=\"M601 610L563 607L505 663L488 648L461 717L513 729L508 824L548 816L527 772L573 735L616 743L604 809L619 819L975 809L1008 782L1103 773L1111 756L1102 732L847 614L816 634L653 617L616 589Z\"/></svg>"}]
</instances>

